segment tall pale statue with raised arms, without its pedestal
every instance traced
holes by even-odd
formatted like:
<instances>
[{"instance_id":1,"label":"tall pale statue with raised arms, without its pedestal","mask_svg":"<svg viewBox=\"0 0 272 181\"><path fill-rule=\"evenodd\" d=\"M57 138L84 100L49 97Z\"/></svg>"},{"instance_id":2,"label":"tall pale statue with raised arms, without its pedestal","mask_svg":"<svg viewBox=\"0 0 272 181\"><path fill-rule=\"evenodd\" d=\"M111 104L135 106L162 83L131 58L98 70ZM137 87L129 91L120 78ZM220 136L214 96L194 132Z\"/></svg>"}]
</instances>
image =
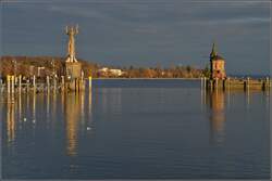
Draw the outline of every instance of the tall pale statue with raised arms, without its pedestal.
<instances>
[{"instance_id":1,"label":"tall pale statue with raised arms, without its pedestal","mask_svg":"<svg viewBox=\"0 0 272 181\"><path fill-rule=\"evenodd\" d=\"M77 62L75 59L75 35L78 34L78 25L76 25L76 27L66 26L65 30L66 30L66 35L69 36L66 62Z\"/></svg>"}]
</instances>

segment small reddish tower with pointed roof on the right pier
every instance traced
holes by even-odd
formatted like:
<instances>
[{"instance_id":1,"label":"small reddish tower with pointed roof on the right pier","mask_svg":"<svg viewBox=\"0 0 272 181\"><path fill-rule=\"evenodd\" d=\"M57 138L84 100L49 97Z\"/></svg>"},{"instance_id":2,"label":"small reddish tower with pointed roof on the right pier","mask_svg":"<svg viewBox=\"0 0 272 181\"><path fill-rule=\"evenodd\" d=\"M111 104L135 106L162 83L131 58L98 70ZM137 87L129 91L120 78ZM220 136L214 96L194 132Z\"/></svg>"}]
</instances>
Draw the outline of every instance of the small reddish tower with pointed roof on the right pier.
<instances>
[{"instance_id":1,"label":"small reddish tower with pointed roof on the right pier","mask_svg":"<svg viewBox=\"0 0 272 181\"><path fill-rule=\"evenodd\" d=\"M210 73L211 79L225 79L225 60L218 54L215 51L215 44L212 46L212 51L210 53Z\"/></svg>"}]
</instances>

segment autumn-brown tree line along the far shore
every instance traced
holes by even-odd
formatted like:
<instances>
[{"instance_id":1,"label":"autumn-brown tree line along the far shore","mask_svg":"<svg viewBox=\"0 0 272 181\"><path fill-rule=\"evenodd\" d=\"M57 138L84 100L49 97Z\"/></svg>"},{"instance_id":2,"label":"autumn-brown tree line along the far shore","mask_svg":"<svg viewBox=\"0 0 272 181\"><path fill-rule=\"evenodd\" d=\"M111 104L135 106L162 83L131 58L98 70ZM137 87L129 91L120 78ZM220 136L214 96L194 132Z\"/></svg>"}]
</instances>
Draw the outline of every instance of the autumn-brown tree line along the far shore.
<instances>
[{"instance_id":1,"label":"autumn-brown tree line along the far shore","mask_svg":"<svg viewBox=\"0 0 272 181\"><path fill-rule=\"evenodd\" d=\"M113 67L121 69L122 75L112 73L101 73L103 65L91 63L85 60L78 60L82 63L85 77L94 78L199 78L208 76L209 69L199 69L191 66L172 66L170 68L157 67ZM1 56L0 74L2 77L7 75L22 75L23 77L62 76L65 73L65 59L57 56Z\"/></svg>"}]
</instances>

